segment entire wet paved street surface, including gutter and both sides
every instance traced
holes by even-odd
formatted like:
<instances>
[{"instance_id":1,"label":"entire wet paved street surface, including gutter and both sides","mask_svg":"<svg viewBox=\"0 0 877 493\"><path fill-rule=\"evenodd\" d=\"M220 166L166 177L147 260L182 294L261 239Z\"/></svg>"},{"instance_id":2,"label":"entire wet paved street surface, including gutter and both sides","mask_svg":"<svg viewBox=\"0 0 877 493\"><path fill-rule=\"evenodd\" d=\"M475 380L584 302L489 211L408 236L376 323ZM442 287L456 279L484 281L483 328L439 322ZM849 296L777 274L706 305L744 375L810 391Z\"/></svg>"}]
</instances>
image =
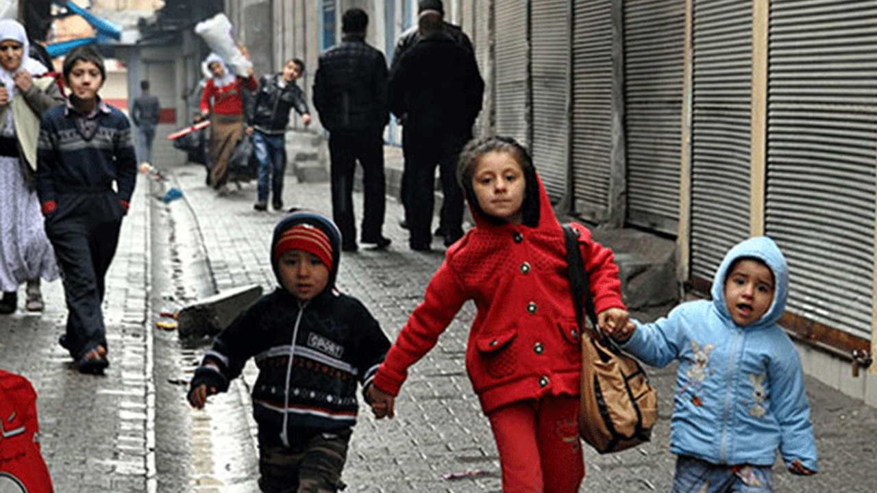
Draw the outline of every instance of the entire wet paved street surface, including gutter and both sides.
<instances>
[{"instance_id":1,"label":"entire wet paved street surface, including gutter and both sides","mask_svg":"<svg viewBox=\"0 0 877 493\"><path fill-rule=\"evenodd\" d=\"M27 376L39 393L42 449L58 492L258 491L253 420L245 378L211 397L204 411L185 403L186 382L208 339L182 341L156 327L173 311L217 291L258 284L275 288L268 243L277 211L253 210L255 185L227 196L204 185L204 168L164 169L166 180L140 175L123 239L108 277L105 317L111 367L105 376L79 375L57 345L66 311L60 282L46 284L46 311L19 310L0 318L0 361ZM291 173L291 170L290 170ZM168 187L182 198L168 204ZM329 212L328 183L288 175L287 208ZM354 194L361 217L361 195ZM396 224L401 207L388 199L385 251L360 246L343 254L339 288L359 297L394 339L443 258L412 252ZM666 307L640 318L654 318ZM363 405L343 480L347 492L499 492L499 464L488 421L463 368L472 304L411 368L393 420L374 420ZM674 368L653 368L660 421L652 442L620 454L585 451L581 491L667 491L674 455L667 451ZM808 378L822 473L789 475L778 464L781 493L872 492L877 410ZM471 475L464 473L471 472ZM460 479L443 475L458 473Z\"/></svg>"}]
</instances>

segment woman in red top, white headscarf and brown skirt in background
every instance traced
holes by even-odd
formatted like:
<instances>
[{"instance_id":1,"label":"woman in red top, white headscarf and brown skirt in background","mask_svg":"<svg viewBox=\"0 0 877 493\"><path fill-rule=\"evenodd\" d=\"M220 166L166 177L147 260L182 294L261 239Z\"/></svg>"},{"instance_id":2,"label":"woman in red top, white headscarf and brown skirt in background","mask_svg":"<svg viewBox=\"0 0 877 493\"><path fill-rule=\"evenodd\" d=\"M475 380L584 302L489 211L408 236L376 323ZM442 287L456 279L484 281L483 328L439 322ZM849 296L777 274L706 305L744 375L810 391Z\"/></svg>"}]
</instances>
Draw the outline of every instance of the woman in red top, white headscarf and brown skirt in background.
<instances>
[{"instance_id":1,"label":"woman in red top, white headscarf and brown skirt in background","mask_svg":"<svg viewBox=\"0 0 877 493\"><path fill-rule=\"evenodd\" d=\"M217 54L210 54L205 62L212 77L201 95L201 118L210 117L209 182L214 189L220 189L229 178L228 160L234 146L244 135L243 91L252 92L259 83L253 78L252 68L246 77L236 76Z\"/></svg>"}]
</instances>

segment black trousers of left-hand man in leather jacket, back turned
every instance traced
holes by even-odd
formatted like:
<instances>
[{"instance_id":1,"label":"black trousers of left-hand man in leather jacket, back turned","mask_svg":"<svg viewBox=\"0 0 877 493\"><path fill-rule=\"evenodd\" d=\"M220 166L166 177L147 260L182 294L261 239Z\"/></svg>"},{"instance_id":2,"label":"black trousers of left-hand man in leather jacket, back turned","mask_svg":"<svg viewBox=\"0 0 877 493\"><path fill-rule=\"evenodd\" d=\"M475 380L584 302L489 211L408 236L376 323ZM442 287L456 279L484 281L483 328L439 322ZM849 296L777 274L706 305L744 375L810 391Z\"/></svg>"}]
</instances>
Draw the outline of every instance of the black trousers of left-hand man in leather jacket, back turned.
<instances>
[{"instance_id":1,"label":"black trousers of left-hand man in leather jacket, back turned","mask_svg":"<svg viewBox=\"0 0 877 493\"><path fill-rule=\"evenodd\" d=\"M353 216L353 171L356 161L362 166L365 196L362 212L362 242L381 239L385 194L382 129L334 130L329 132L329 156L332 165L332 219L341 230L342 247L356 247Z\"/></svg>"}]
</instances>

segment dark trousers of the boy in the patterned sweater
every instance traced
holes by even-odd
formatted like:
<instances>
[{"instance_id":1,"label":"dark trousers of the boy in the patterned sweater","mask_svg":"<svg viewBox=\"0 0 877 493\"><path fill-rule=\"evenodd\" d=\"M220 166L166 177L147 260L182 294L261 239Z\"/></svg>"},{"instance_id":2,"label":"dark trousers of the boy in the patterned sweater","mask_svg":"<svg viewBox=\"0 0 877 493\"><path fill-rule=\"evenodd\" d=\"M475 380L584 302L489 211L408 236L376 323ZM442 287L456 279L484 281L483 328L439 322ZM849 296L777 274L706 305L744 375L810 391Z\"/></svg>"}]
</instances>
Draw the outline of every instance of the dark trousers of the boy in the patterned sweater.
<instances>
[{"instance_id":1,"label":"dark trousers of the boy in the patterned sweater","mask_svg":"<svg viewBox=\"0 0 877 493\"><path fill-rule=\"evenodd\" d=\"M98 345L109 349L101 311L103 277L116 254L124 215L115 192L88 189L58 196L55 211L46 216L68 308L61 344L75 360Z\"/></svg>"}]
</instances>

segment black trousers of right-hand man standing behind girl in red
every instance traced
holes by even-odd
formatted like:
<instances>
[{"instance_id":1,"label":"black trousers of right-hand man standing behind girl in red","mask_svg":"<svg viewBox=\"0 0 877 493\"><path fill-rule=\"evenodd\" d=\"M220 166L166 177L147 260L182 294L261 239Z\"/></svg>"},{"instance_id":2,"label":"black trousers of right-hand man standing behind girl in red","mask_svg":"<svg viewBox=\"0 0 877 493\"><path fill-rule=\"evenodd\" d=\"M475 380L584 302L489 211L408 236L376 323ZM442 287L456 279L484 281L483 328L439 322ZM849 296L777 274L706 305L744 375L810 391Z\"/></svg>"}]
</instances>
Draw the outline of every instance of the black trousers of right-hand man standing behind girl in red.
<instances>
[{"instance_id":1,"label":"black trousers of right-hand man standing behind girl in red","mask_svg":"<svg viewBox=\"0 0 877 493\"><path fill-rule=\"evenodd\" d=\"M457 183L460 150L472 138L469 130L403 127L405 169L403 188L407 204L405 222L410 232L409 245L425 249L432 240L432 210L435 201L435 171L439 166L442 208L439 225L446 239L463 235L463 193Z\"/></svg>"}]
</instances>

